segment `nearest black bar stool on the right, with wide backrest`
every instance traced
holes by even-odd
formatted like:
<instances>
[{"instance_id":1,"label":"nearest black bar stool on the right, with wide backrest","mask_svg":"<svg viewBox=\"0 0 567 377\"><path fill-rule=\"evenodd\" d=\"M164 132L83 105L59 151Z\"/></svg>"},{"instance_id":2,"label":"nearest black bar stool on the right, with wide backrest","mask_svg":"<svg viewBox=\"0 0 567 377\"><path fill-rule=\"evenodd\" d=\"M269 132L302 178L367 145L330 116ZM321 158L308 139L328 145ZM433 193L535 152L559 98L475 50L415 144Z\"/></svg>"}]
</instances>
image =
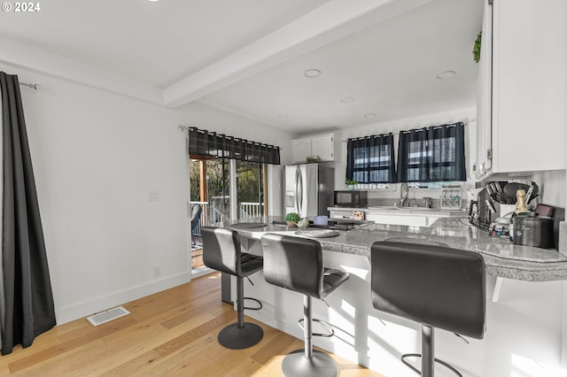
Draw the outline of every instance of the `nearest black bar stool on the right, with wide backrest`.
<instances>
[{"instance_id":1,"label":"nearest black bar stool on the right, with wide backrest","mask_svg":"<svg viewBox=\"0 0 567 377\"><path fill-rule=\"evenodd\" d=\"M406 242L374 242L372 304L422 325L422 353L401 361L424 377L434 375L434 330L482 339L485 334L485 260L476 252ZM406 358L421 357L421 373Z\"/></svg>"}]
</instances>

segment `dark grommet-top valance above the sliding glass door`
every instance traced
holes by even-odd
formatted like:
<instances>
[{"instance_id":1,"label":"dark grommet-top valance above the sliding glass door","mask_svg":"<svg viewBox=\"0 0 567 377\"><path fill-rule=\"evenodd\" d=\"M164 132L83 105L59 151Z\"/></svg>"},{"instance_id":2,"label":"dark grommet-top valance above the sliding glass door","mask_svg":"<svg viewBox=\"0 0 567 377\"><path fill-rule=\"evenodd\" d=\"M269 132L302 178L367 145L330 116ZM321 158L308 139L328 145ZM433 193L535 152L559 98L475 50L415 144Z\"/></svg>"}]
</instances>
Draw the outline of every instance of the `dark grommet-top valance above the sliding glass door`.
<instances>
[{"instance_id":1,"label":"dark grommet-top valance above the sliding glass door","mask_svg":"<svg viewBox=\"0 0 567 377\"><path fill-rule=\"evenodd\" d=\"M189 127L189 154L231 158L261 164L280 164L280 147Z\"/></svg>"}]
</instances>

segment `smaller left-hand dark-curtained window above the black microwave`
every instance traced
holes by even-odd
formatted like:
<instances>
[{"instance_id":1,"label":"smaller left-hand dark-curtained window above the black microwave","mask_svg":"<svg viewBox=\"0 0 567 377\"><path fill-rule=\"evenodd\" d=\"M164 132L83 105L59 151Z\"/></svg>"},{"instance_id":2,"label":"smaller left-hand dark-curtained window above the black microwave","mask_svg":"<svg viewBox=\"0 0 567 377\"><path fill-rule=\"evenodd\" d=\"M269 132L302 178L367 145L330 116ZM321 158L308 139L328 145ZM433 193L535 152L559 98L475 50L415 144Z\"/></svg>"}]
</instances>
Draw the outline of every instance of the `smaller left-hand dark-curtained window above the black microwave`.
<instances>
[{"instance_id":1,"label":"smaller left-hand dark-curtained window above the black microwave","mask_svg":"<svg viewBox=\"0 0 567 377\"><path fill-rule=\"evenodd\" d=\"M346 148L346 179L359 183L395 182L392 134L348 139Z\"/></svg>"}]
</instances>

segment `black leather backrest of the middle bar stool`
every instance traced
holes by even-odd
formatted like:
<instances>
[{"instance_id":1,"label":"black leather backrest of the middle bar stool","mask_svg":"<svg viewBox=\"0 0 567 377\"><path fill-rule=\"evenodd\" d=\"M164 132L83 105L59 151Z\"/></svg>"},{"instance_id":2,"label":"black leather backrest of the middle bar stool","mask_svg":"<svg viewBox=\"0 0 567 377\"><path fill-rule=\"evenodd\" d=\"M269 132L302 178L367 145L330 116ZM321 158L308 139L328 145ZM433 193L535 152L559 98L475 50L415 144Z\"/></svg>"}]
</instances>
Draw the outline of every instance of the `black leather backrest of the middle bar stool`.
<instances>
[{"instance_id":1,"label":"black leather backrest of the middle bar stool","mask_svg":"<svg viewBox=\"0 0 567 377\"><path fill-rule=\"evenodd\" d=\"M323 298L321 244L307 238L262 235L264 278L268 283Z\"/></svg>"}]
</instances>

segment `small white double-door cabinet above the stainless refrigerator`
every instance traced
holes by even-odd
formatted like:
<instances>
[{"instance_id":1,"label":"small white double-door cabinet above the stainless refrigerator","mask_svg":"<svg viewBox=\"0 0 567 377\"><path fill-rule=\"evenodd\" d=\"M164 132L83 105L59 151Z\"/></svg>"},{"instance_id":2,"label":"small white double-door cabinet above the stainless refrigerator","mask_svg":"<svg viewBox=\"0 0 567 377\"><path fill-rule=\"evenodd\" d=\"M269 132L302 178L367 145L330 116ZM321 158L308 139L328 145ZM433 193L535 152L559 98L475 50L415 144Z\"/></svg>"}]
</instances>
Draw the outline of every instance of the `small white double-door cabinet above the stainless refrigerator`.
<instances>
[{"instance_id":1,"label":"small white double-door cabinet above the stainless refrigerator","mask_svg":"<svg viewBox=\"0 0 567 377\"><path fill-rule=\"evenodd\" d=\"M325 134L291 140L291 155L294 164L306 162L310 156L318 156L321 161L338 160L338 135Z\"/></svg>"}]
</instances>

